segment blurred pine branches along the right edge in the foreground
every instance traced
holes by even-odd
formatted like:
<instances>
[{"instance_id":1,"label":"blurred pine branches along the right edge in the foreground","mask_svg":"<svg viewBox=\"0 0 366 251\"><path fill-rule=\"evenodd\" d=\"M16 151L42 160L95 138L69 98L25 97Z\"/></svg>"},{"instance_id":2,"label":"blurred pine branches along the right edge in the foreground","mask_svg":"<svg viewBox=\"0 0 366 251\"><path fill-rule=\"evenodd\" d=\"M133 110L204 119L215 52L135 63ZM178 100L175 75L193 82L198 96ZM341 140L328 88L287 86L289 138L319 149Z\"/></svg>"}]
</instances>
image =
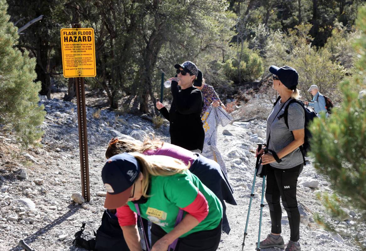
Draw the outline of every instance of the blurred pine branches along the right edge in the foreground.
<instances>
[{"instance_id":1,"label":"blurred pine branches along the right edge in the foreground","mask_svg":"<svg viewBox=\"0 0 366 251\"><path fill-rule=\"evenodd\" d=\"M358 74L341 83L343 102L334 109L330 118L326 120L323 116L311 124L311 151L315 157L315 168L327 177L339 195L324 195L322 198L330 215L344 214L340 207L343 204L358 209L365 219L366 98L359 98L353 90L361 90L366 80L366 6L359 9L356 24L361 31L361 36L355 42Z\"/></svg>"}]
</instances>

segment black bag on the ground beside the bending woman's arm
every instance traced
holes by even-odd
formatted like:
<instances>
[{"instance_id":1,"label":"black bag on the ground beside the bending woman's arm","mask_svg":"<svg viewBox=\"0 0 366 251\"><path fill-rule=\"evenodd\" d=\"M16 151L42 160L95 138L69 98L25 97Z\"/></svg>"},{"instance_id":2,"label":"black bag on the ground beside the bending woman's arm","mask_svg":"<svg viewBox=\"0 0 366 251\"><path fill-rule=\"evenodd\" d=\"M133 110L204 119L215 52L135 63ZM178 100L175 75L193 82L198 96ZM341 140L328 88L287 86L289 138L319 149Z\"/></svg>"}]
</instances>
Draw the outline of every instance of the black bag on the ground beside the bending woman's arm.
<instances>
[{"instance_id":1,"label":"black bag on the ground beside the bending woman's arm","mask_svg":"<svg viewBox=\"0 0 366 251\"><path fill-rule=\"evenodd\" d=\"M102 224L97 230L96 251L129 251L123 231L115 214L104 210Z\"/></svg>"}]
</instances>

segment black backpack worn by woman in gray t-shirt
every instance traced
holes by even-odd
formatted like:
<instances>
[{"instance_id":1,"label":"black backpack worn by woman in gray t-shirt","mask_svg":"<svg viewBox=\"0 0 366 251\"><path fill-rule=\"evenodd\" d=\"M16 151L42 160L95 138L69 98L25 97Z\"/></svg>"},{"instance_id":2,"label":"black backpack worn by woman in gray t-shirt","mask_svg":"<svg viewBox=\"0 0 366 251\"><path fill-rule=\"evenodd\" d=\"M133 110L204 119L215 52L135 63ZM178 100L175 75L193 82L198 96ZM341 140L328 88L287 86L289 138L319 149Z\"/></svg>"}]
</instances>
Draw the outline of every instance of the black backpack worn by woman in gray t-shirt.
<instances>
[{"instance_id":1,"label":"black backpack worn by woman in gray t-shirt","mask_svg":"<svg viewBox=\"0 0 366 251\"><path fill-rule=\"evenodd\" d=\"M281 97L279 96L277 98L276 102L273 104L273 106L275 106L280 99L281 99ZM279 116L279 119L281 119L281 117L284 117L285 124L286 124L287 128L289 128L288 127L288 106L290 106L290 104L292 104L292 103L298 103L299 105L301 105L301 107L304 109L304 112L305 112L305 127L304 127L305 128L305 137L304 137L304 143L303 143L303 145L300 146L299 148L300 148L301 153L302 153L302 157L303 157L303 160L304 160L304 165L306 165L305 156L310 151L310 138L311 138L311 132L309 131L308 126L309 126L309 123L311 121L313 121L313 119L315 117L317 118L318 116L314 112L314 110L311 110L311 109L307 108L304 105L303 102L301 102L298 99L293 98L286 105L284 113Z\"/></svg>"}]
</instances>

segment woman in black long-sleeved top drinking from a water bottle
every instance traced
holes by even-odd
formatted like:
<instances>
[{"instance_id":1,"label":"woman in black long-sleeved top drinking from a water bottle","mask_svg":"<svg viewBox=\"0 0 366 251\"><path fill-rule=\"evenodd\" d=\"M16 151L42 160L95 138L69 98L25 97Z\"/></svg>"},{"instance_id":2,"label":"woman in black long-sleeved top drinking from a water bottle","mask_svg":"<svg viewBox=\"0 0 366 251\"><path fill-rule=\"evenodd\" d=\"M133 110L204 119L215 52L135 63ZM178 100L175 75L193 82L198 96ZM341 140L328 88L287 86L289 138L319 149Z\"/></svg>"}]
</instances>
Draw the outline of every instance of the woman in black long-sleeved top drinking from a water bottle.
<instances>
[{"instance_id":1,"label":"woman in black long-sleeved top drinking from a water bottle","mask_svg":"<svg viewBox=\"0 0 366 251\"><path fill-rule=\"evenodd\" d=\"M156 102L156 107L170 122L171 143L202 153L205 140L205 131L201 121L203 98L201 91L193 86L199 70L191 61L175 64L174 67L177 69L178 78L169 79L172 81L173 96L170 110L168 112L159 101Z\"/></svg>"}]
</instances>

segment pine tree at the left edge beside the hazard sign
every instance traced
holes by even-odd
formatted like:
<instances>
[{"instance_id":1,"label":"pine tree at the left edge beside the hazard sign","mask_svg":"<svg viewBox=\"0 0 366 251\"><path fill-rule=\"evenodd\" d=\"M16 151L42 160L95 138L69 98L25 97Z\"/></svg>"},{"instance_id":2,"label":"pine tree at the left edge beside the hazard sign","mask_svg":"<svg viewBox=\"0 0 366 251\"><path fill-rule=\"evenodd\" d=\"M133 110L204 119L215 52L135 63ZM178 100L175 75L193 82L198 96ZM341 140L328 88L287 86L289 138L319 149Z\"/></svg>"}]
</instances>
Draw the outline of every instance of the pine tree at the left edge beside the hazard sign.
<instances>
[{"instance_id":1,"label":"pine tree at the left edge beside the hazard sign","mask_svg":"<svg viewBox=\"0 0 366 251\"><path fill-rule=\"evenodd\" d=\"M0 0L0 144L4 137L16 137L23 146L34 143L43 132L44 120L39 106L40 82L34 82L36 60L18 50L17 28L9 22L7 3Z\"/></svg>"}]
</instances>

